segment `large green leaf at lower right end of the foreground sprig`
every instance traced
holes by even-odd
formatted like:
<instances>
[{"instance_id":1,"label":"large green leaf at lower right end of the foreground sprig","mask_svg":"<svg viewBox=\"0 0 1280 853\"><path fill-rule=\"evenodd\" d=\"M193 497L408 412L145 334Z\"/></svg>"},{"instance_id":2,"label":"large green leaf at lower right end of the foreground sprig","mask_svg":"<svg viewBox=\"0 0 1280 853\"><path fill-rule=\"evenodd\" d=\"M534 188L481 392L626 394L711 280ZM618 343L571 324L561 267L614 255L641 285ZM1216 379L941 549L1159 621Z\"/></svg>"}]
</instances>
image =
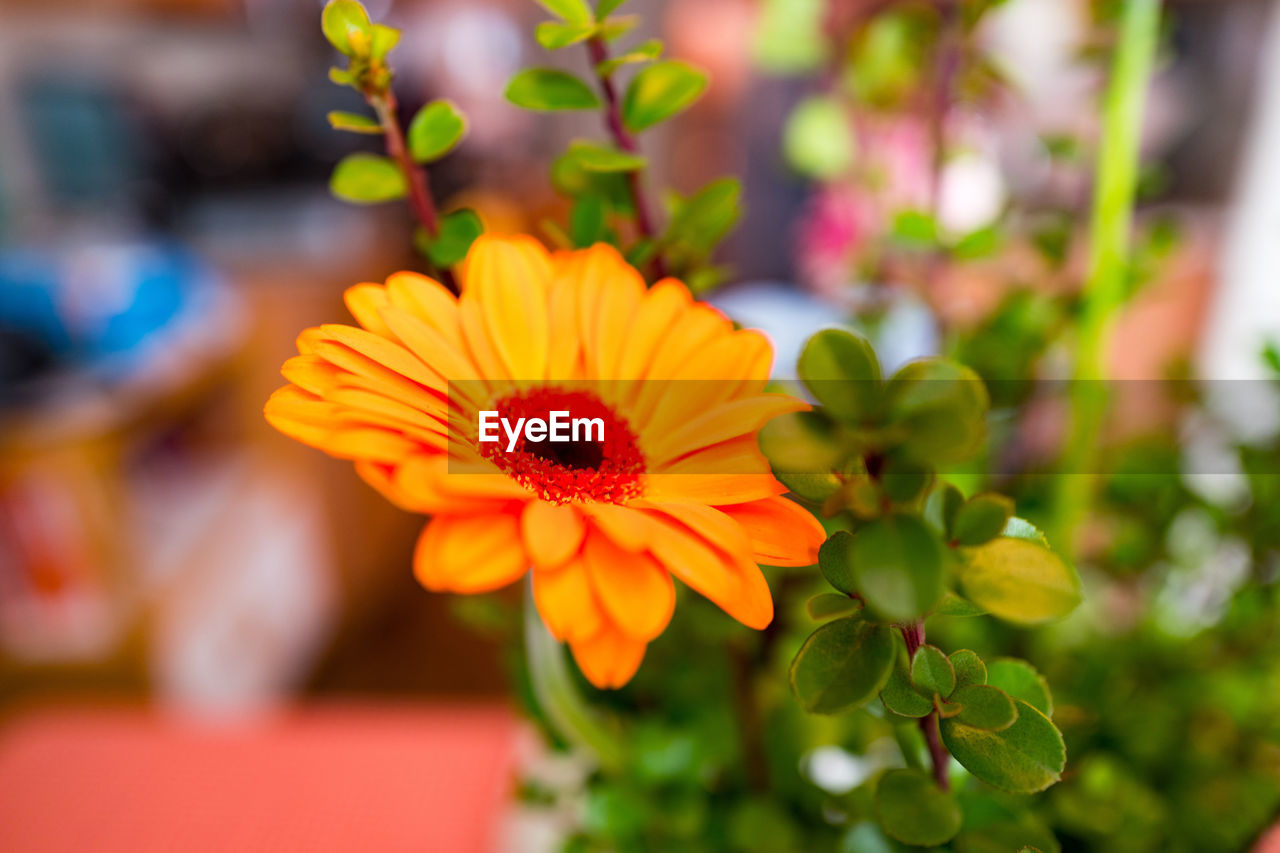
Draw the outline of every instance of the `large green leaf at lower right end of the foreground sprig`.
<instances>
[{"instance_id":1,"label":"large green leaf at lower right end of the foreground sprig","mask_svg":"<svg viewBox=\"0 0 1280 853\"><path fill-rule=\"evenodd\" d=\"M1066 748L1048 717L1020 699L1014 704L1018 720L1004 731L977 729L955 717L942 720L942 742L965 770L988 785L1033 794L1061 779Z\"/></svg>"}]
</instances>

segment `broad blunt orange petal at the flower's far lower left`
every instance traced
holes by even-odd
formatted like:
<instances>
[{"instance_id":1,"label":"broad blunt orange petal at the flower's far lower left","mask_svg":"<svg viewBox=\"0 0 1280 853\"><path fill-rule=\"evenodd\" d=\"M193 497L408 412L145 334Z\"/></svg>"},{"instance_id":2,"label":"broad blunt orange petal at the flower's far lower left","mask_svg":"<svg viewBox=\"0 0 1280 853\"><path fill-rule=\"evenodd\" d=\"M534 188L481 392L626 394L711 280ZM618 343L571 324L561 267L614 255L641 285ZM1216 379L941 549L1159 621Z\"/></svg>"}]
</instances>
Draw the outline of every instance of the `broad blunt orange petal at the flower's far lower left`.
<instances>
[{"instance_id":1,"label":"broad blunt orange petal at the flower's far lower left","mask_svg":"<svg viewBox=\"0 0 1280 853\"><path fill-rule=\"evenodd\" d=\"M431 519L413 552L415 576L435 592L500 589L527 569L520 524L506 512Z\"/></svg>"}]
</instances>

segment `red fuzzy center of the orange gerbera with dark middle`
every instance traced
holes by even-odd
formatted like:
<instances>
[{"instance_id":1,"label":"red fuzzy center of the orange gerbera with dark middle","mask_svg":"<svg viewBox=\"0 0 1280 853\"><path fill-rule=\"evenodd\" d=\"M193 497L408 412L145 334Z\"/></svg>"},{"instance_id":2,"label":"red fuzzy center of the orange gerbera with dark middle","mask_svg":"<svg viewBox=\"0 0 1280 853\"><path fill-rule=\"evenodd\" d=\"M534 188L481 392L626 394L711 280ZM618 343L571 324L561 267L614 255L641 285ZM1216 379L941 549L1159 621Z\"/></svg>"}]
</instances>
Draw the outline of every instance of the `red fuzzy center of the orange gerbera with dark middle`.
<instances>
[{"instance_id":1,"label":"red fuzzy center of the orange gerbera with dark middle","mask_svg":"<svg viewBox=\"0 0 1280 853\"><path fill-rule=\"evenodd\" d=\"M512 428L521 418L526 423L539 418L549 424L552 412L568 412L567 419L579 421L566 428L570 441L549 441L549 437L530 441L521 430L511 452L507 451L506 434L497 443L480 444L481 455L544 501L622 503L640 494L644 456L636 447L635 433L595 394L535 388L504 397L494 407Z\"/></svg>"}]
</instances>

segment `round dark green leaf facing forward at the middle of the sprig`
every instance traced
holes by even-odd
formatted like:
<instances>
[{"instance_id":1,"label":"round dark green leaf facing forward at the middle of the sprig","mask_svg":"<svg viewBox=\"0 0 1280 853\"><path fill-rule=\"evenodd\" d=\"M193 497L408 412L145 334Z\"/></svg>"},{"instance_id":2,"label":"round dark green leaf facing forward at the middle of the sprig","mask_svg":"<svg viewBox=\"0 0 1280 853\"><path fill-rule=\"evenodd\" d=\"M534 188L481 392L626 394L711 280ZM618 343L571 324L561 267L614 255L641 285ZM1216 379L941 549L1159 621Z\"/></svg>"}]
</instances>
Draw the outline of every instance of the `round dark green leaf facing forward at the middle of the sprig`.
<instances>
[{"instance_id":1,"label":"round dark green leaf facing forward at the middle of the sprig","mask_svg":"<svg viewBox=\"0 0 1280 853\"><path fill-rule=\"evenodd\" d=\"M942 597L943 547L916 516L870 521L854 534L850 555L858 592L886 621L919 619Z\"/></svg>"}]
</instances>

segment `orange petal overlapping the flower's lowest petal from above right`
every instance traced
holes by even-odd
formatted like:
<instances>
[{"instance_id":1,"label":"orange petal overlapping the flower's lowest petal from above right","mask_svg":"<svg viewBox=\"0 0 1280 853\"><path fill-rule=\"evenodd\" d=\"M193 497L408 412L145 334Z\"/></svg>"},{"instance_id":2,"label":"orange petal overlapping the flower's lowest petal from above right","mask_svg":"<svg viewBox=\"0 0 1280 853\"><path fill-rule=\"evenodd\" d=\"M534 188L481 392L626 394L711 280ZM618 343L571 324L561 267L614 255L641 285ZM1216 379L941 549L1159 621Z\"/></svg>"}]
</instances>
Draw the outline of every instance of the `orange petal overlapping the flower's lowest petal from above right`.
<instances>
[{"instance_id":1,"label":"orange petal overlapping the flower's lowest petal from above right","mask_svg":"<svg viewBox=\"0 0 1280 853\"><path fill-rule=\"evenodd\" d=\"M595 596L618 628L641 640L662 634L676 610L676 587L666 569L599 534L588 537L582 556Z\"/></svg>"}]
</instances>

